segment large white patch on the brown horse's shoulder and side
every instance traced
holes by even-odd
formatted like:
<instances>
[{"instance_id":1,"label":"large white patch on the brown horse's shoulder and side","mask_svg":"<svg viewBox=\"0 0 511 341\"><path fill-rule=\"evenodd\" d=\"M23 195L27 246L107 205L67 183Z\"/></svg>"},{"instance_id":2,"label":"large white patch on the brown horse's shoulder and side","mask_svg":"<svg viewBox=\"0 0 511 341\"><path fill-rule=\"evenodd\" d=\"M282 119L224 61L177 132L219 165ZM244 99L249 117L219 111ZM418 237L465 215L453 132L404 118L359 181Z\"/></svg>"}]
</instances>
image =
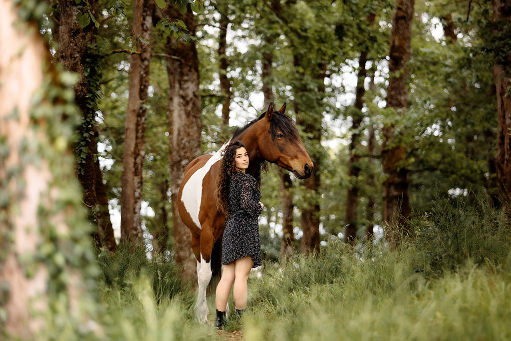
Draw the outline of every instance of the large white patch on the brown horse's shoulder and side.
<instances>
[{"instance_id":1,"label":"large white patch on the brown horse's shoulder and side","mask_svg":"<svg viewBox=\"0 0 511 341\"><path fill-rule=\"evenodd\" d=\"M222 158L221 152L229 145L229 143L230 140L227 141L215 154L213 154L213 156L210 157L210 160L208 160L202 168L197 169L197 171L190 176L187 183L183 186L181 201L184 209L187 210L190 217L192 217L193 222L199 229L202 229L199 221L199 210L202 200L202 181L204 180L204 176L207 172L210 171L211 167Z\"/></svg>"}]
</instances>

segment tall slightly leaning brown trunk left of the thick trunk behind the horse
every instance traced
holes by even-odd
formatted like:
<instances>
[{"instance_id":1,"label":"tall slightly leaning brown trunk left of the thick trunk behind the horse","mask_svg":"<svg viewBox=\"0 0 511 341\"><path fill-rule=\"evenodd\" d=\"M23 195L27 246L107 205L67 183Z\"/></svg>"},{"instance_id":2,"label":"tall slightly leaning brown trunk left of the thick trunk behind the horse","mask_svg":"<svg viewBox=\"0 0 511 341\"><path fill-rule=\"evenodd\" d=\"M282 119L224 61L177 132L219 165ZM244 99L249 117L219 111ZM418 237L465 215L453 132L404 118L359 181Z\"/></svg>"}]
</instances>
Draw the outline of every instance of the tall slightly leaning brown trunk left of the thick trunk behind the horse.
<instances>
[{"instance_id":1,"label":"tall slightly leaning brown trunk left of the thick trunk behind the horse","mask_svg":"<svg viewBox=\"0 0 511 341\"><path fill-rule=\"evenodd\" d=\"M138 37L150 41L152 0L136 0L133 14L133 43L139 54L130 61L129 99L124 127L123 174L121 179L121 243L141 245L141 206L144 166L144 134L149 87L151 47Z\"/></svg>"}]
</instances>

